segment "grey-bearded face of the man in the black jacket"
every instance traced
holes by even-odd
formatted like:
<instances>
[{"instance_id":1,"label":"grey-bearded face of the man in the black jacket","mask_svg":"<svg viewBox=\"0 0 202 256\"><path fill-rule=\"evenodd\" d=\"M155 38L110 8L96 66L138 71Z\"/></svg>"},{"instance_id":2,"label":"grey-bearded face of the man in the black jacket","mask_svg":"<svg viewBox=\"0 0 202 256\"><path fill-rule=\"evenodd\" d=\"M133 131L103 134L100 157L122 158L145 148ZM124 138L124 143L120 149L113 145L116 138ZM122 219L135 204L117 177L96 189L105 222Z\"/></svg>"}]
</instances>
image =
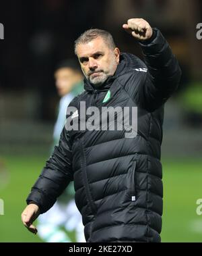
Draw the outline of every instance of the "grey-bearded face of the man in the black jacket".
<instances>
[{"instance_id":1,"label":"grey-bearded face of the man in the black jacket","mask_svg":"<svg viewBox=\"0 0 202 256\"><path fill-rule=\"evenodd\" d=\"M89 43L77 45L76 50L84 76L95 86L102 85L112 76L119 64L119 49L110 49L100 36Z\"/></svg>"}]
</instances>

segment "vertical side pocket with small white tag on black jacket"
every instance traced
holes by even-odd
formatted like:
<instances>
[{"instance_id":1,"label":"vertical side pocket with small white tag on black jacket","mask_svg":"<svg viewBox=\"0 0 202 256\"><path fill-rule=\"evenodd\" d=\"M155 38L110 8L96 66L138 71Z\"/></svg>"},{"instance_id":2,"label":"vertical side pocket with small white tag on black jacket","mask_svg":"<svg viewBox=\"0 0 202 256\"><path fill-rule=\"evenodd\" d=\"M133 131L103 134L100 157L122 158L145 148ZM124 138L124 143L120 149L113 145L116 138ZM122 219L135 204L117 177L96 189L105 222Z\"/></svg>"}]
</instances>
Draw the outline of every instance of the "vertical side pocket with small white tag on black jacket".
<instances>
[{"instance_id":1,"label":"vertical side pocket with small white tag on black jacket","mask_svg":"<svg viewBox=\"0 0 202 256\"><path fill-rule=\"evenodd\" d=\"M129 188L130 201L136 200L136 187L135 187L135 172L136 172L137 161L133 161L131 168L127 175L127 187Z\"/></svg>"}]
</instances>

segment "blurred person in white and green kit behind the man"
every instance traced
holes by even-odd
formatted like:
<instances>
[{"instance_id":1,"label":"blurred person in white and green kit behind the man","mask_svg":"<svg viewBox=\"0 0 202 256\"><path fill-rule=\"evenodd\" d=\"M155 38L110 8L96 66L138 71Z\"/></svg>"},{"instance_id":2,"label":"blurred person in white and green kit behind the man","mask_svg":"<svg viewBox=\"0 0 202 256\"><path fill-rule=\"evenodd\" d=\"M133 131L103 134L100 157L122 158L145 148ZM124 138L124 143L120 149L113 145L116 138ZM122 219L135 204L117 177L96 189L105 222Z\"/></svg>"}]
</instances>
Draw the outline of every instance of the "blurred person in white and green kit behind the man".
<instances>
[{"instance_id":1,"label":"blurred person in white and green kit behind the man","mask_svg":"<svg viewBox=\"0 0 202 256\"><path fill-rule=\"evenodd\" d=\"M55 71L55 85L61 99L51 151L59 143L66 120L67 106L83 91L83 75L76 59L66 59L59 63ZM71 182L55 205L38 217L38 236L45 242L86 242L81 214L75 205L74 194L75 190Z\"/></svg>"}]
</instances>

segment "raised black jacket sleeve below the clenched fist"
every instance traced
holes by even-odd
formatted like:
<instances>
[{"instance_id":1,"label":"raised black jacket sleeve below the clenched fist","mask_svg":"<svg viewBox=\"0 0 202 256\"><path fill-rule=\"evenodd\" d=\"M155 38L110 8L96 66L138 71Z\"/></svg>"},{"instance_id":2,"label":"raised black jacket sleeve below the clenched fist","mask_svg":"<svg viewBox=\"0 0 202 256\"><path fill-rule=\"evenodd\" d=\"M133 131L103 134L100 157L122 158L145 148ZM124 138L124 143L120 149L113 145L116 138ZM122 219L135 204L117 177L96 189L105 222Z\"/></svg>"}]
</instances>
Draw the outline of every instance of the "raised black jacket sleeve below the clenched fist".
<instances>
[{"instance_id":1,"label":"raised black jacket sleeve below the clenched fist","mask_svg":"<svg viewBox=\"0 0 202 256\"><path fill-rule=\"evenodd\" d=\"M164 36L157 28L147 41L139 42L147 72L139 86L137 101L147 110L154 111L176 91L181 70Z\"/></svg>"}]
</instances>

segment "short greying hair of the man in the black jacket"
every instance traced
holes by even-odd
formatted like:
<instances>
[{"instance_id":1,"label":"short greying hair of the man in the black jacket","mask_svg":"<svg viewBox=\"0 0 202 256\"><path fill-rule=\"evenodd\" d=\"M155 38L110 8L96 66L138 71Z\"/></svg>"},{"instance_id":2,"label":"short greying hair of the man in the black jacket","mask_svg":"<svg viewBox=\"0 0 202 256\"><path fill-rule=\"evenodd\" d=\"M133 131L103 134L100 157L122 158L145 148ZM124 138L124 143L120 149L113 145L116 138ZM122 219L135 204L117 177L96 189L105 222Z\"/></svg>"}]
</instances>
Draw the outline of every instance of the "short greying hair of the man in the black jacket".
<instances>
[{"instance_id":1,"label":"short greying hair of the man in the black jacket","mask_svg":"<svg viewBox=\"0 0 202 256\"><path fill-rule=\"evenodd\" d=\"M116 45L114 43L114 39L108 31L98 29L98 28L91 28L91 29L83 32L83 34L81 34L76 39L75 44L74 44L75 55L77 55L77 52L76 52L77 45L89 43L93 39L96 39L98 36L100 36L100 37L102 37L102 39L104 39L104 42L108 45L108 47L110 49L113 50L116 47Z\"/></svg>"}]
</instances>

